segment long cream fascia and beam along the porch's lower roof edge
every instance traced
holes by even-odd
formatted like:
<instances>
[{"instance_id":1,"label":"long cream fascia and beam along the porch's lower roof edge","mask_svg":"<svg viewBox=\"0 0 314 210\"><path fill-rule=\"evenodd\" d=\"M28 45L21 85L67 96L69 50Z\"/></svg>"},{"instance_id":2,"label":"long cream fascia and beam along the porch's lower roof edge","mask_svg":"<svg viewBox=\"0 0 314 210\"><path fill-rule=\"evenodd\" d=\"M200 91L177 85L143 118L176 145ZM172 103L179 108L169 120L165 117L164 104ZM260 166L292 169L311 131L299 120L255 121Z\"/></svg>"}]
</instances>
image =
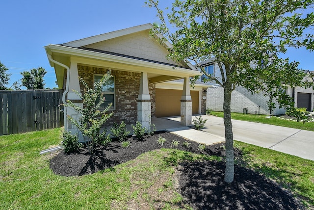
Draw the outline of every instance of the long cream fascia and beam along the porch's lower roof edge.
<instances>
[{"instance_id":1,"label":"long cream fascia and beam along the porch's lower roof edge","mask_svg":"<svg viewBox=\"0 0 314 210\"><path fill-rule=\"evenodd\" d=\"M101 61L109 61L109 62L116 62L116 63L121 63L121 64L141 66L141 67L145 67L144 71L148 73L157 73L156 69L158 69L159 70L158 74L164 74L164 75L169 75L167 74L169 72L175 73L176 75L181 76L181 77L193 77L197 75L202 75L202 73L198 71L185 69L181 67L173 67L173 66L149 62L145 60L139 60L139 59L134 59L134 58L129 58L129 57L122 57L118 55L82 50L82 49L77 49L77 48L72 48L72 47L67 47L67 46L61 46L61 45L48 45L45 47L45 49L47 53L48 52L62 53L69 56L83 57L85 59L86 58L96 59L96 60L101 60ZM150 70L149 68L151 68L152 70ZM141 71L143 70L141 69L138 72L141 72Z\"/></svg>"}]
</instances>

